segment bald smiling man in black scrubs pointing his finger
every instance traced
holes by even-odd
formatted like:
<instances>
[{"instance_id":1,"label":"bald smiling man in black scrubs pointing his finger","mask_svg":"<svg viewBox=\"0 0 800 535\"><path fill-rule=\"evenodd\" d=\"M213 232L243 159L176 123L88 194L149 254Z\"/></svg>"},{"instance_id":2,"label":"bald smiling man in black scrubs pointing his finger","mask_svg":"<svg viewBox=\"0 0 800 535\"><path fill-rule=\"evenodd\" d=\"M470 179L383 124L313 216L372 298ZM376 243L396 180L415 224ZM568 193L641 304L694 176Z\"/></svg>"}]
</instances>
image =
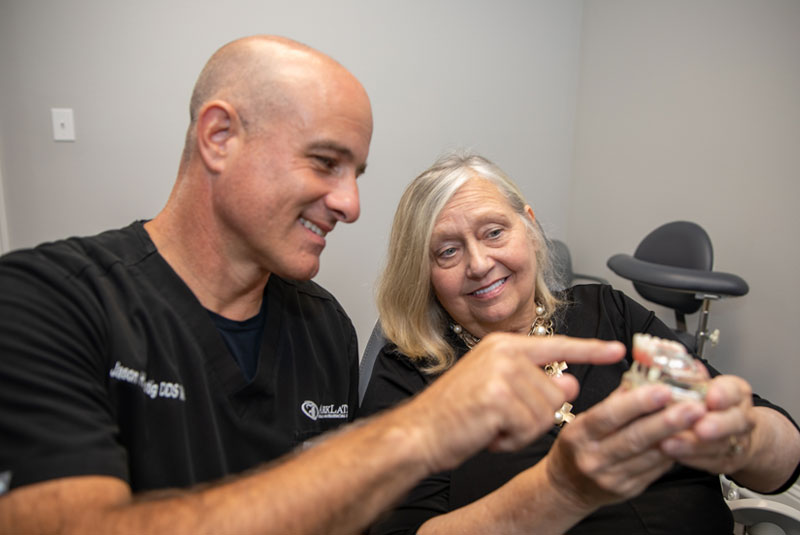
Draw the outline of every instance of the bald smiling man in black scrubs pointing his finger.
<instances>
[{"instance_id":1,"label":"bald smiling man in black scrubs pointing his finger","mask_svg":"<svg viewBox=\"0 0 800 535\"><path fill-rule=\"evenodd\" d=\"M200 74L155 218L0 261L0 533L353 533L422 477L549 429L577 385L540 364L622 356L498 336L312 441L356 408L353 326L309 279L358 218L371 135L337 62L235 41Z\"/></svg>"}]
</instances>

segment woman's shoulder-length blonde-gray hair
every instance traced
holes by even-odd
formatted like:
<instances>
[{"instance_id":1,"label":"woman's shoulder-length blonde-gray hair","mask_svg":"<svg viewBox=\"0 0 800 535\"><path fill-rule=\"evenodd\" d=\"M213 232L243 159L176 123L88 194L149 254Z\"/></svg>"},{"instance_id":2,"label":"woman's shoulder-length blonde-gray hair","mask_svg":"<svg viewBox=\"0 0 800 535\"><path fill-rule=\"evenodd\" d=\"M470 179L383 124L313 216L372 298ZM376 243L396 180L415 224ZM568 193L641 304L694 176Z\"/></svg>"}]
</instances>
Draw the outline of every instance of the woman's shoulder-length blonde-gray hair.
<instances>
[{"instance_id":1,"label":"woman's shoulder-length blonde-gray hair","mask_svg":"<svg viewBox=\"0 0 800 535\"><path fill-rule=\"evenodd\" d=\"M525 223L535 244L536 299L552 317L560 301L548 288L552 278L549 247L528 203L514 182L495 164L469 153L439 158L408 185L394 216L386 266L378 281L378 313L387 339L426 373L441 373L455 362L445 339L450 318L431 286L430 241L433 226L450 198L468 180L482 178L494 184Z\"/></svg>"}]
</instances>

